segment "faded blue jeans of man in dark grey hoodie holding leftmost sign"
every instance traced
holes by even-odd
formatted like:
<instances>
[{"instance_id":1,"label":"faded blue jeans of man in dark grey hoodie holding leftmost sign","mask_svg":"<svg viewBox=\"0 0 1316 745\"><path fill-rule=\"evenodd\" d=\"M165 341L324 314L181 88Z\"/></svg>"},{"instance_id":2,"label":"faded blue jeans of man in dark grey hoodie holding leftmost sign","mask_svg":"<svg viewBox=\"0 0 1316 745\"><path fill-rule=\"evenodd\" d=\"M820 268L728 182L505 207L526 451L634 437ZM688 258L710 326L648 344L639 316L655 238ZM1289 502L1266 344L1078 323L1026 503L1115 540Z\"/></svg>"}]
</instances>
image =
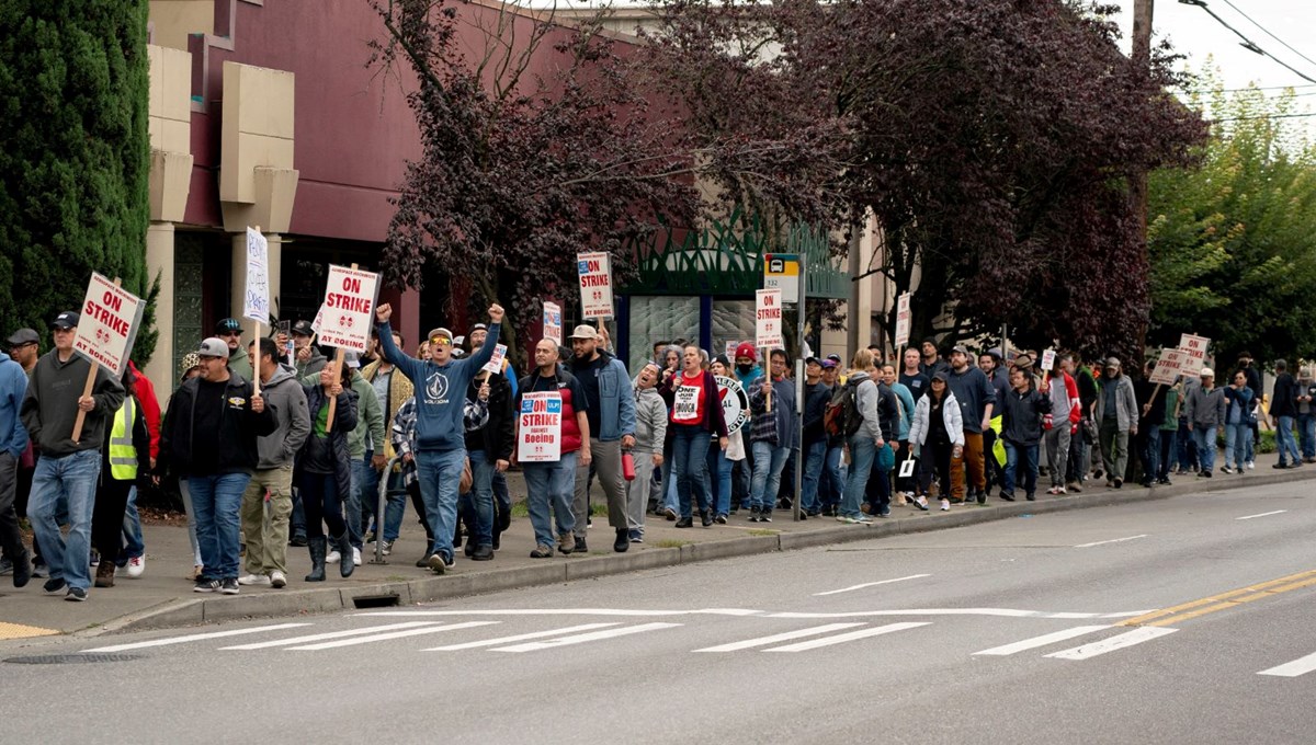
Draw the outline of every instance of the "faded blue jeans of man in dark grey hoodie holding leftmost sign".
<instances>
[{"instance_id":1,"label":"faded blue jeans of man in dark grey hoodie holding leftmost sign","mask_svg":"<svg viewBox=\"0 0 1316 745\"><path fill-rule=\"evenodd\" d=\"M70 587L91 586L91 515L99 478L100 451L41 456L32 474L28 516L41 543L41 557L50 568L50 578L62 578ZM67 540L59 531L58 518L63 514L68 515ZM237 519L236 510L233 516Z\"/></svg>"}]
</instances>

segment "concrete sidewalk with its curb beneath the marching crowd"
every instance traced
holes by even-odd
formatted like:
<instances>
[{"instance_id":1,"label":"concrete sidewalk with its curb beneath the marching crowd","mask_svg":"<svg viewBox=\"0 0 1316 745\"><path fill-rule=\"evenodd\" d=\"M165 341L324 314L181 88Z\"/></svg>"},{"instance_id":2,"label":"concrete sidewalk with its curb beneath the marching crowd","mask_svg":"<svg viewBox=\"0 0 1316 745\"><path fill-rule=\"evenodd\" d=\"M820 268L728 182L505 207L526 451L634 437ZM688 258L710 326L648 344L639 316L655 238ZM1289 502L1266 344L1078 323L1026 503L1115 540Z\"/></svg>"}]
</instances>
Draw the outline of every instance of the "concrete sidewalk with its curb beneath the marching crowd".
<instances>
[{"instance_id":1,"label":"concrete sidewalk with its curb beneath the marching crowd","mask_svg":"<svg viewBox=\"0 0 1316 745\"><path fill-rule=\"evenodd\" d=\"M371 564L374 547L367 545L366 564L358 566L351 578L338 577L338 566L328 566L326 582L308 583L301 577L309 570L309 556L304 548L288 548L288 587L242 587L240 595L200 595L192 593L187 578L192 569L187 530L184 527L145 526L146 572L137 579L120 570L114 587L89 590L86 603L68 603L63 593L46 595L42 579L16 590L9 577L0 577L0 640L43 636L53 633L99 635L116 631L192 625L240 618L282 616L308 612L334 612L357 607L408 606L415 603L451 599L479 593L491 593L530 585L549 585L617 574L637 569L672 566L678 564L725 558L828 545L853 540L866 540L903 532L921 532L961 527L973 523L999 520L1028 514L1053 512L1158 499L1166 497L1221 491L1240 486L1292 482L1316 477L1316 465L1292 470L1274 470L1274 455L1258 456L1255 470L1241 476L1215 478L1178 477L1173 486L1144 489L1125 485L1124 489L1105 489L1092 484L1082 494L1048 497L1038 494L1037 502L1001 502L988 499L986 506L954 507L941 512L921 512L913 507L892 506L887 519L873 526L842 524L830 518L813 518L799 523L788 511L778 511L772 523L749 523L746 515L733 515L725 526L676 530L674 523L650 516L645 530L645 543L632 544L626 553L613 553L613 532L605 516L595 516L595 527L588 533L588 554L557 554L553 558L530 558L534 548L530 523L515 518L503 533L501 549L494 561L470 561L458 552L457 568L437 577L428 569L417 569L415 562L425 551L425 536L416 523L408 503L403 533L388 564ZM512 480L513 498L524 495L520 477ZM601 494L595 494L596 503Z\"/></svg>"}]
</instances>

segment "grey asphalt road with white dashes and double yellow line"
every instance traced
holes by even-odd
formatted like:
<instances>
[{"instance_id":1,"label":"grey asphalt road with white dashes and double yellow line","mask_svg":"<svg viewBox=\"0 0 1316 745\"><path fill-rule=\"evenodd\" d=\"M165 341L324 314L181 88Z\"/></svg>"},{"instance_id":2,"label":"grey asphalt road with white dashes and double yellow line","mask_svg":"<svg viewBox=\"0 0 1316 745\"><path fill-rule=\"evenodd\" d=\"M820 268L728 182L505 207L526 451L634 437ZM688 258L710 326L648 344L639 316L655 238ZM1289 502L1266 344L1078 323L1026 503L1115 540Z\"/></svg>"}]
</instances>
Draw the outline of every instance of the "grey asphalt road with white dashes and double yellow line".
<instances>
[{"instance_id":1,"label":"grey asphalt road with white dashes and double yellow line","mask_svg":"<svg viewBox=\"0 0 1316 745\"><path fill-rule=\"evenodd\" d=\"M0 741L1305 744L1313 501L1298 482L420 608L7 643ZM124 658L21 664L78 653Z\"/></svg>"}]
</instances>

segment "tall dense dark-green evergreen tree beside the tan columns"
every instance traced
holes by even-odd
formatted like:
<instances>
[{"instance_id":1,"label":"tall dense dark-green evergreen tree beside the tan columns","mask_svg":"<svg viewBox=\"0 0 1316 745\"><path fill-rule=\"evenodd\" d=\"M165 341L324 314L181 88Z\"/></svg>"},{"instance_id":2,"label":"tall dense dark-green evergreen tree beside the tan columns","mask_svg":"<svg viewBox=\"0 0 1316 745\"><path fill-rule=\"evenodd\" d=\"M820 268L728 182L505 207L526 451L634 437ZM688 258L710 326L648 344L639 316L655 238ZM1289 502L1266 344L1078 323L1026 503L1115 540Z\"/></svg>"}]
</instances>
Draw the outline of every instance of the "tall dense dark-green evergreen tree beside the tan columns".
<instances>
[{"instance_id":1,"label":"tall dense dark-green evergreen tree beside the tan columns","mask_svg":"<svg viewBox=\"0 0 1316 745\"><path fill-rule=\"evenodd\" d=\"M147 293L146 18L146 0L0 3L4 335L78 309L92 271ZM133 357L153 347L143 330Z\"/></svg>"}]
</instances>

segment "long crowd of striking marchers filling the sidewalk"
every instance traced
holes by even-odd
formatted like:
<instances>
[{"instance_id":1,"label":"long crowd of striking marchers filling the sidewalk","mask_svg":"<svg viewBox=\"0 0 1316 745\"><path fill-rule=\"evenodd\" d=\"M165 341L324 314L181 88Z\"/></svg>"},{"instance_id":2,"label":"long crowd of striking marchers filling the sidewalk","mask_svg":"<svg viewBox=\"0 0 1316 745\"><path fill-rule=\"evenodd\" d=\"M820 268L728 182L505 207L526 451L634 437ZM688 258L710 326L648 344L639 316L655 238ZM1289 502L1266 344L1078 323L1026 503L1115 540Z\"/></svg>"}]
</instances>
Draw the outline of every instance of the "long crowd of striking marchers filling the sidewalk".
<instances>
[{"instance_id":1,"label":"long crowd of striking marchers filling the sidewalk","mask_svg":"<svg viewBox=\"0 0 1316 745\"><path fill-rule=\"evenodd\" d=\"M784 350L761 357L747 342L733 357L657 342L628 371L605 328L582 325L566 346L538 342L519 376L495 355L497 305L465 335L433 328L415 356L391 315L376 309L362 359L325 356L307 322L243 346L241 323L224 319L184 356L163 411L136 365L118 378L97 368L79 394L91 367L72 351L76 313L54 318L46 353L37 331L16 331L0 352L0 548L14 586L39 577L46 593L86 600L118 572L139 577L147 482L184 505L193 589L237 594L287 586L290 547L309 554L305 582L333 565L350 577L368 547L393 552L408 501L425 531L418 568L445 574L458 549L492 560L512 523L513 468L530 556L550 558L590 549L595 484L620 553L649 520L770 523L797 506L804 519L869 524L901 506L1211 478L1219 440L1219 473L1234 474L1254 468L1262 427L1275 430L1274 468L1316 463L1312 368L1274 361L1266 402L1248 353L1219 381L1203 368L1155 385L1154 361L974 355L925 339L890 360L876 347L848 364L809 356L796 381ZM519 463L521 415L544 399L554 457Z\"/></svg>"}]
</instances>

